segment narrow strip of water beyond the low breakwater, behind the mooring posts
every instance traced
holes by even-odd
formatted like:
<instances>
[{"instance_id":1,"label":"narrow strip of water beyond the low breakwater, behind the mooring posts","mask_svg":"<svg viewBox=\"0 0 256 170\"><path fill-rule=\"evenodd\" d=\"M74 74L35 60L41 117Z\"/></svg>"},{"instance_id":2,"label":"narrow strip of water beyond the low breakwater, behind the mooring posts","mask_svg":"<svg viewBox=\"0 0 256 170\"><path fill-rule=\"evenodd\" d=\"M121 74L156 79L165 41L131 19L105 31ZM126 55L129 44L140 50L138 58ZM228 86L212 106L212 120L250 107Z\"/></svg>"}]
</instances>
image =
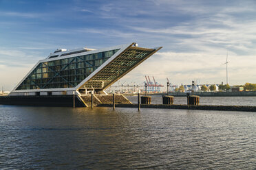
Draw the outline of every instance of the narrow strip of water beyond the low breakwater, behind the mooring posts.
<instances>
[{"instance_id":1,"label":"narrow strip of water beyond the low breakwater, behind the mooring posts","mask_svg":"<svg viewBox=\"0 0 256 170\"><path fill-rule=\"evenodd\" d=\"M126 96L137 104L138 96ZM151 96L152 104L162 104L162 95ZM187 104L186 97L174 97L173 104ZM256 97L200 97L200 105L256 106Z\"/></svg>"}]
</instances>

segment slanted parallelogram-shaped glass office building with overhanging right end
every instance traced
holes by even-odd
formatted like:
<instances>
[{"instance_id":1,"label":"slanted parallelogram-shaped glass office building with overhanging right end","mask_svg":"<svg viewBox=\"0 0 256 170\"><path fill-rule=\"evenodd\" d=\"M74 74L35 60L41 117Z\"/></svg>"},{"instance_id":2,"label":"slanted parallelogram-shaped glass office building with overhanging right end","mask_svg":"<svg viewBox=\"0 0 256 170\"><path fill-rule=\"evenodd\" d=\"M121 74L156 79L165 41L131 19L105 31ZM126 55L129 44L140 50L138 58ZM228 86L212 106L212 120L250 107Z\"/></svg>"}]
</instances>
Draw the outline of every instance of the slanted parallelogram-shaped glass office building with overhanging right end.
<instances>
[{"instance_id":1,"label":"slanted parallelogram-shaped glass office building with overhanging right end","mask_svg":"<svg viewBox=\"0 0 256 170\"><path fill-rule=\"evenodd\" d=\"M58 49L45 60L40 60L10 95L43 95L47 92L79 90L104 91L160 48L137 47L134 42L98 50Z\"/></svg>"}]
</instances>

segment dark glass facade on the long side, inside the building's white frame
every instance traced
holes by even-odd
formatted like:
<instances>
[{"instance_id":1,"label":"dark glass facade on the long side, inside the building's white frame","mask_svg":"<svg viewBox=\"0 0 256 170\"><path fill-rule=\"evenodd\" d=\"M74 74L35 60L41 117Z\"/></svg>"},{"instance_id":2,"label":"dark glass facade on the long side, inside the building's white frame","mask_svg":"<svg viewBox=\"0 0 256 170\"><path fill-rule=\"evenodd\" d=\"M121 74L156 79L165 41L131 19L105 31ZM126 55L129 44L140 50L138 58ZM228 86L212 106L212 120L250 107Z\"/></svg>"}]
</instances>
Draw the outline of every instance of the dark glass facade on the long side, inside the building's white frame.
<instances>
[{"instance_id":1,"label":"dark glass facade on the long side, inside the building's white frame","mask_svg":"<svg viewBox=\"0 0 256 170\"><path fill-rule=\"evenodd\" d=\"M16 90L75 87L118 50L41 62Z\"/></svg>"}]
</instances>

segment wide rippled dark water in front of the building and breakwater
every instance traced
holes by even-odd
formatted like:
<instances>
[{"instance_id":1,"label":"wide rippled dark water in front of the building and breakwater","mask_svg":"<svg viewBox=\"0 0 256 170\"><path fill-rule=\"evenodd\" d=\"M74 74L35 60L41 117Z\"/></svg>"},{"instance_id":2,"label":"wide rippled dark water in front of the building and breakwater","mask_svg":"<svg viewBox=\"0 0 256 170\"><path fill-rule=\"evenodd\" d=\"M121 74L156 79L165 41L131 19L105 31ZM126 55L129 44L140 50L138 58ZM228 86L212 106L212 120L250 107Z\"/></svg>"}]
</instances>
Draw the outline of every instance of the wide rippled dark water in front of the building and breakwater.
<instances>
[{"instance_id":1,"label":"wide rippled dark water in front of the building and breakwater","mask_svg":"<svg viewBox=\"0 0 256 170\"><path fill-rule=\"evenodd\" d=\"M0 169L256 169L255 112L0 106Z\"/></svg>"}]
</instances>

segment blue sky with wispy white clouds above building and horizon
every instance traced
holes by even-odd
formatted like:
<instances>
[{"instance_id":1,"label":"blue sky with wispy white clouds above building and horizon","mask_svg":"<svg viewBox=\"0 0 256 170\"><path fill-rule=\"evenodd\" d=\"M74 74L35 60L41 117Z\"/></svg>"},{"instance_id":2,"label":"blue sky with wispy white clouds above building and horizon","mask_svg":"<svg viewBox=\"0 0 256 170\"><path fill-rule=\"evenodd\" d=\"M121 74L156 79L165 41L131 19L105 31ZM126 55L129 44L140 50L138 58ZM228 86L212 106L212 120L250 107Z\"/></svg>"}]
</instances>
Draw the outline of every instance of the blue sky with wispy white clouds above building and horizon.
<instances>
[{"instance_id":1,"label":"blue sky with wispy white clouds above building and horizon","mask_svg":"<svg viewBox=\"0 0 256 170\"><path fill-rule=\"evenodd\" d=\"M256 83L256 1L0 0L0 86L12 90L58 48L162 47L120 79Z\"/></svg>"}]
</instances>

